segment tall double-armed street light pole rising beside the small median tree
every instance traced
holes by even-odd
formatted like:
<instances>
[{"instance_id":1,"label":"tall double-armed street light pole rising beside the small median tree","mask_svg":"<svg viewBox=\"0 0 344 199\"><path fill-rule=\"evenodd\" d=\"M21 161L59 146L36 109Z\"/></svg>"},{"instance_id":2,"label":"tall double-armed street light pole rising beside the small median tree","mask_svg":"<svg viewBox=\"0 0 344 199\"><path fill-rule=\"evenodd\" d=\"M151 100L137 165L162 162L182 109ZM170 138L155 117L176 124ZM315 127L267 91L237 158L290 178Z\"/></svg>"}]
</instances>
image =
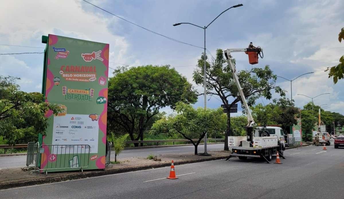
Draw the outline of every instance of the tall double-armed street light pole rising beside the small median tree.
<instances>
[{"instance_id":1,"label":"tall double-armed street light pole rising beside the small median tree","mask_svg":"<svg viewBox=\"0 0 344 199\"><path fill-rule=\"evenodd\" d=\"M243 6L243 4L233 5L232 7L228 8L227 10L229 10L231 8L237 8L237 7L240 7L240 6ZM222 15L227 10L225 10L222 13L220 13L219 15L217 15L217 17ZM206 76L207 75L207 73L206 73L207 66L206 66L206 53L205 53L205 51L206 51L206 48L205 48L205 29L207 29L208 26L210 24L212 24L217 19L217 17L212 22L210 22L207 26L204 26L204 27L197 26L197 25L192 24L192 23L176 23L176 24L173 24L173 26L178 26L178 25L181 25L181 24L190 24L190 25L193 25L193 26L196 26L196 27L204 29L204 54L203 54L203 62L204 62L204 69L203 69L204 70L204 82L203 82L203 87L204 87L204 110L207 109L207 76ZM208 152L207 152L207 133L206 132L205 132L205 135L204 135L204 153L202 155L210 156L210 154L208 154Z\"/></svg>"}]
</instances>

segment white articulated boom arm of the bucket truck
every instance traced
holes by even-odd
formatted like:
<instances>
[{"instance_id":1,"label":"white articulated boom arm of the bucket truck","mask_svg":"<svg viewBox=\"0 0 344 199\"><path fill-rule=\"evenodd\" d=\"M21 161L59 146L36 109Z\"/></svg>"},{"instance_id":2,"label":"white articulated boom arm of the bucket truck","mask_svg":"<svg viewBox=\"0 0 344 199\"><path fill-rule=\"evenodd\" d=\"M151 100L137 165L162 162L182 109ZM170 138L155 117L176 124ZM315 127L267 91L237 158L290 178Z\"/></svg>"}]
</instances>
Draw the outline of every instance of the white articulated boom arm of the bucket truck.
<instances>
[{"instance_id":1,"label":"white articulated boom arm of the bucket truck","mask_svg":"<svg viewBox=\"0 0 344 199\"><path fill-rule=\"evenodd\" d=\"M253 120L251 111L250 111L250 109L248 107L248 104L247 104L246 97L244 95L243 89L241 88L241 85L240 85L240 82L239 82L239 78L238 78L238 75L237 75L236 70L235 70L235 66L232 63L232 56L230 55L230 52L247 52L247 51L258 51L258 50L250 49L250 48L237 48L237 49L227 49L224 52L225 52L225 56L226 56L226 59L227 59L227 63L229 64L230 69L232 69L233 78L234 78L235 84L236 84L236 86L237 86L237 88L239 90L241 101L243 101L244 107L247 110L247 120L248 120L247 127L252 127L255 122Z\"/></svg>"}]
</instances>

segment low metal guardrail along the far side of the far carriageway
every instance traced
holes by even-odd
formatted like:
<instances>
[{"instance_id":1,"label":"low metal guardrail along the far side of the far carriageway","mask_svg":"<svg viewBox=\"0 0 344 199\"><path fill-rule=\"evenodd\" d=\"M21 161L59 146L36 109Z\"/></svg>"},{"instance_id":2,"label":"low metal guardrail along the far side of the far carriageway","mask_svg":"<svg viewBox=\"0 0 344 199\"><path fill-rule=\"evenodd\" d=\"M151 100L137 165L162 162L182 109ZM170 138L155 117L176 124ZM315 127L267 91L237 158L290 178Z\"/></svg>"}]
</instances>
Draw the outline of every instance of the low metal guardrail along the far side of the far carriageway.
<instances>
[{"instance_id":1,"label":"low metal guardrail along the far side of the far carriageway","mask_svg":"<svg viewBox=\"0 0 344 199\"><path fill-rule=\"evenodd\" d=\"M225 138L208 138L208 141L224 141ZM198 141L198 139L192 139L192 141ZM204 139L202 139L202 141L204 142ZM162 142L190 142L190 140L188 139L175 139L175 140L137 140L137 141L126 141L126 144L140 144L140 143L157 143L157 145L159 143ZM10 148L27 148L28 144L17 144L17 145L0 145L0 149L10 149ZM6 152L5 152L6 153Z\"/></svg>"}]
</instances>

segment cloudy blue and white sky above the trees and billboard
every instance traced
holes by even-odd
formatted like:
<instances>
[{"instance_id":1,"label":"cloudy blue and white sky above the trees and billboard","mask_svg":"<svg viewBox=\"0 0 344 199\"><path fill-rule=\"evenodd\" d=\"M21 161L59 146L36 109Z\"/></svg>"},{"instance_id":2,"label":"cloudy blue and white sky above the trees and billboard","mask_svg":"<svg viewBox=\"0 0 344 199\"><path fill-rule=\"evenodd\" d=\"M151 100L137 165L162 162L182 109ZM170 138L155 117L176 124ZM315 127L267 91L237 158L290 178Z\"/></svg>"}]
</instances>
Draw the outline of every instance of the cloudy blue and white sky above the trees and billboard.
<instances>
[{"instance_id":1,"label":"cloudy blue and white sky above the trees and billboard","mask_svg":"<svg viewBox=\"0 0 344 199\"><path fill-rule=\"evenodd\" d=\"M219 13L238 3L207 28L207 49L246 48L250 41L264 49L264 59L255 67L270 65L275 74L293 79L293 99L298 107L310 97L315 104L328 104L325 110L344 114L344 81L336 85L324 72L338 63L344 43L338 33L344 27L344 4L341 0L99 0L91 1L133 23L168 37L203 46L203 30L191 25L172 26L178 22L207 25ZM55 34L110 44L110 67L143 64L170 64L192 82L192 72L203 49L171 41L132 25L80 0L6 1L0 8L1 53L43 52L42 35ZM247 55L233 54L238 69L250 68ZM24 91L41 91L43 54L0 55L0 75L20 77ZM111 71L111 70L110 70ZM194 83L193 83L194 84ZM290 82L279 78L287 90ZM196 87L202 90L202 87ZM277 98L277 95L274 95ZM269 103L259 99L257 103ZM212 98L208 107L219 107ZM195 107L203 106L200 97ZM168 108L164 109L170 112ZM240 113L239 113L240 114Z\"/></svg>"}]
</instances>

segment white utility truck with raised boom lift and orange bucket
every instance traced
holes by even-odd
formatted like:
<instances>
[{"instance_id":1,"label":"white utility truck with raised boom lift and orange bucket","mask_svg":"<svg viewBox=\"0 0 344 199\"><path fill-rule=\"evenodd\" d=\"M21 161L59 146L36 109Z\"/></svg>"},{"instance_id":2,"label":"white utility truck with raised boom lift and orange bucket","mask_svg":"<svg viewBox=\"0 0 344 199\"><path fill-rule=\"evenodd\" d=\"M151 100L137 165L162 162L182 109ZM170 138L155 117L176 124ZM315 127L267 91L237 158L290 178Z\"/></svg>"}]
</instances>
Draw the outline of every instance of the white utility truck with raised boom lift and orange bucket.
<instances>
[{"instance_id":1,"label":"white utility truck with raised boom lift and orange bucket","mask_svg":"<svg viewBox=\"0 0 344 199\"><path fill-rule=\"evenodd\" d=\"M248 157L252 158L263 158L267 163L270 163L273 154L279 153L280 156L283 157L284 151L284 137L283 141L281 141L281 133L271 135L266 128L256 128L254 129L254 120L251 114L251 111L248 107L246 97L244 95L243 89L241 88L239 78L236 73L236 69L234 64L232 63L232 56L230 55L231 52L245 52L248 53L249 56L253 55L256 57L256 62L251 64L258 63L258 53L262 52L261 48L243 48L243 49L227 49L224 51L225 57L227 59L227 63L232 70L233 78L235 84L238 88L239 95L241 97L241 101L247 111L247 121L248 124L246 126L247 136L229 136L228 137L228 144L232 144L232 154L226 159L229 160L231 157L238 157L240 160L246 160ZM282 132L283 135L283 132Z\"/></svg>"}]
</instances>

